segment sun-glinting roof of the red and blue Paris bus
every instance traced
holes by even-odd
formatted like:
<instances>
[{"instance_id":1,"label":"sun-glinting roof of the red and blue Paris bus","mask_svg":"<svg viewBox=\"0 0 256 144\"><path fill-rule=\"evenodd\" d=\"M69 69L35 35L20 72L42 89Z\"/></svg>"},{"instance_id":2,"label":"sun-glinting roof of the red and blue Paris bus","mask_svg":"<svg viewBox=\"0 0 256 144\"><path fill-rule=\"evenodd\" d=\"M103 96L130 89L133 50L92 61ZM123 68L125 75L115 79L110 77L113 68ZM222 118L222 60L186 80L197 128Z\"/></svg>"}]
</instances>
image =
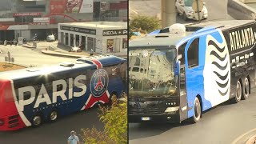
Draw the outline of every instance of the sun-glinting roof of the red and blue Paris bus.
<instances>
[{"instance_id":1,"label":"sun-glinting roof of the red and blue Paris bus","mask_svg":"<svg viewBox=\"0 0 256 144\"><path fill-rule=\"evenodd\" d=\"M22 70L1 72L0 79L16 80L21 78L43 76L47 74L58 74L66 71L79 72L84 69L96 69L97 66L91 62L92 58L98 59L98 61L102 63L103 67L126 62L126 60L123 58L118 58L111 55L95 55L91 57L78 58L77 62L63 62L61 64L51 66L37 66Z\"/></svg>"}]
</instances>

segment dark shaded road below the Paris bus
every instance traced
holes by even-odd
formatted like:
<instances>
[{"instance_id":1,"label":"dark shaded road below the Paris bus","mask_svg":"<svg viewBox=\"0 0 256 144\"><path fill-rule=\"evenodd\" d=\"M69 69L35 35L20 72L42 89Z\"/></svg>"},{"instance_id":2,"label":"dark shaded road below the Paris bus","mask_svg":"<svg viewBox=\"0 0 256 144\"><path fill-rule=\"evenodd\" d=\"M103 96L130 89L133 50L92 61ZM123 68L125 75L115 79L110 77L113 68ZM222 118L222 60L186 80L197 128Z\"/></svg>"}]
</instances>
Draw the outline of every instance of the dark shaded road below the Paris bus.
<instances>
[{"instance_id":1,"label":"dark shaded road below the Paris bus","mask_svg":"<svg viewBox=\"0 0 256 144\"><path fill-rule=\"evenodd\" d=\"M103 130L102 122L98 121L98 108L80 111L58 119L57 122L45 123L41 127L27 127L22 130L0 132L1 144L65 144L70 131L75 130L81 140L81 129L92 128Z\"/></svg>"}]
</instances>

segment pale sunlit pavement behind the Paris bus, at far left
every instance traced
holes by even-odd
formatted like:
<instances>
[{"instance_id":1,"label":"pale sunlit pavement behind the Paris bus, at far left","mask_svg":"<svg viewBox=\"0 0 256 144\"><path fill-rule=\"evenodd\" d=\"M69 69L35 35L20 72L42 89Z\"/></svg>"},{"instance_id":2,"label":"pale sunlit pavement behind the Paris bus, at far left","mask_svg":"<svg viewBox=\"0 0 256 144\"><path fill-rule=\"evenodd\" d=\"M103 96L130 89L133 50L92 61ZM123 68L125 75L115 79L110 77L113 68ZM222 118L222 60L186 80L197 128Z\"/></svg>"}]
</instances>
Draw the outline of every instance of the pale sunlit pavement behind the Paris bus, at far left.
<instances>
[{"instance_id":1,"label":"pale sunlit pavement behind the Paris bus, at far left","mask_svg":"<svg viewBox=\"0 0 256 144\"><path fill-rule=\"evenodd\" d=\"M63 58L42 54L42 49L34 50L23 46L0 45L0 50L2 51L2 54L0 54L0 62L5 62L5 56L7 56L7 52L10 51L10 56L14 57L14 63L22 64L24 66L51 65L75 60L74 58Z\"/></svg>"}]
</instances>

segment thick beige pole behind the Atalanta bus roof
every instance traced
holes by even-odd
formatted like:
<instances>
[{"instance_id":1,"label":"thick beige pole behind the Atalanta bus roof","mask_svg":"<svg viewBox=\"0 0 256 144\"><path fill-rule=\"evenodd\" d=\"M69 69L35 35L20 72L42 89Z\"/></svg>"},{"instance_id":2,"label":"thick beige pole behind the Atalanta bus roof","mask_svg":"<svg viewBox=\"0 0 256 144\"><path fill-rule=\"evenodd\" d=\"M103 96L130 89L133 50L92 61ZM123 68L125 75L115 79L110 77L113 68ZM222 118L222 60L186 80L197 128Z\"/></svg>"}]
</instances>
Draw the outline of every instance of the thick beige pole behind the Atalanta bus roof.
<instances>
[{"instance_id":1,"label":"thick beige pole behind the Atalanta bus roof","mask_svg":"<svg viewBox=\"0 0 256 144\"><path fill-rule=\"evenodd\" d=\"M176 23L175 0L161 0L162 28Z\"/></svg>"}]
</instances>

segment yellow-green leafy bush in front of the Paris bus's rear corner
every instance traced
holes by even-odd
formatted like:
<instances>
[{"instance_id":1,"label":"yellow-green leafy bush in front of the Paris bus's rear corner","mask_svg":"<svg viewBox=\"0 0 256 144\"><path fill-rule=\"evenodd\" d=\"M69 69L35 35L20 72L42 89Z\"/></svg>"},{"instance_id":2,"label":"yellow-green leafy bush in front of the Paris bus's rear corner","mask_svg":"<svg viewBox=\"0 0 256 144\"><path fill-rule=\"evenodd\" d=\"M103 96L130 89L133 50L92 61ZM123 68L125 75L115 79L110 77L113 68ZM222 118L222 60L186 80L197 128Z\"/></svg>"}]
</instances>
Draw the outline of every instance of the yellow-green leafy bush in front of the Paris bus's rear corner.
<instances>
[{"instance_id":1,"label":"yellow-green leafy bush in front of the Paris bus's rear corner","mask_svg":"<svg viewBox=\"0 0 256 144\"><path fill-rule=\"evenodd\" d=\"M127 101L118 101L114 96L110 107L100 106L99 110L98 117L105 125L104 130L82 129L82 140L93 144L127 143Z\"/></svg>"}]
</instances>

